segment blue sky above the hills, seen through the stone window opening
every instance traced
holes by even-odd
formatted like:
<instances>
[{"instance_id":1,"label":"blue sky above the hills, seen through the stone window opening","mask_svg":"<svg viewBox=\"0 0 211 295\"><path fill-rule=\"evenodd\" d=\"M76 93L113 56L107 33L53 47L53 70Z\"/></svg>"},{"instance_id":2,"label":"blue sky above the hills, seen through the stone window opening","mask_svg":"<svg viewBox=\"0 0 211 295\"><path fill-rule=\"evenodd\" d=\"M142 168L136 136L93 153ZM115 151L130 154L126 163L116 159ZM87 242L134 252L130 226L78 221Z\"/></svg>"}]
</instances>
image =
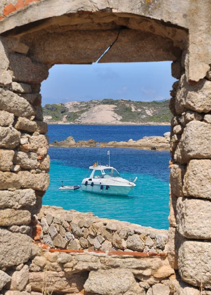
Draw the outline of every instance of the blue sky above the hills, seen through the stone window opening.
<instances>
[{"instance_id":1,"label":"blue sky above the hills, seen through the stone window opening","mask_svg":"<svg viewBox=\"0 0 211 295\"><path fill-rule=\"evenodd\" d=\"M169 61L54 65L41 86L42 105L104 98L162 100L169 98L175 81Z\"/></svg>"}]
</instances>

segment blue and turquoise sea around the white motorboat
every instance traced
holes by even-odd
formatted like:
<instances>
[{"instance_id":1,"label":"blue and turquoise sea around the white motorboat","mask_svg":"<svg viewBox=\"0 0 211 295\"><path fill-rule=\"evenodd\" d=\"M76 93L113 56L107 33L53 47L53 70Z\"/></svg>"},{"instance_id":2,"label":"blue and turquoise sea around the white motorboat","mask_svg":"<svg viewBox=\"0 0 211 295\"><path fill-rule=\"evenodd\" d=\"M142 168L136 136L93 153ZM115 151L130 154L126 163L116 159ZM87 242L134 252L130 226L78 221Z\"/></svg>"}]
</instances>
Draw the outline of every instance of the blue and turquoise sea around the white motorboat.
<instances>
[{"instance_id":1,"label":"blue and turquoise sea around the white motorboat","mask_svg":"<svg viewBox=\"0 0 211 295\"><path fill-rule=\"evenodd\" d=\"M50 142L74 136L76 140L136 140L146 135L162 135L169 126L50 125ZM99 217L128 221L158 229L168 228L169 169L168 151L109 148L111 165L124 178L134 179L136 187L128 197L104 196L76 191L59 191L64 185L80 184L94 162L108 164L107 148L50 148L49 189L44 205L61 206L81 212L92 211Z\"/></svg>"}]
</instances>

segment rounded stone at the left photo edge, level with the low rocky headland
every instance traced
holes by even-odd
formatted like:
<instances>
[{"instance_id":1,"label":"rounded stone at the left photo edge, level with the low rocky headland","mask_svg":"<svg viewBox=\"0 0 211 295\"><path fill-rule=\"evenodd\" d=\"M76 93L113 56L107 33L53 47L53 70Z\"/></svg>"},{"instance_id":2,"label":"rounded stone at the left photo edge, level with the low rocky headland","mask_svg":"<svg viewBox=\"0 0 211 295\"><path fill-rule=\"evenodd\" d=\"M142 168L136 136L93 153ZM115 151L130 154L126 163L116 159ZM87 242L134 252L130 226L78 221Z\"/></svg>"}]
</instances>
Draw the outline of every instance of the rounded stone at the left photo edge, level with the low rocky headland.
<instances>
[{"instance_id":1,"label":"rounded stone at the left photo edge, level with the low rocky headland","mask_svg":"<svg viewBox=\"0 0 211 295\"><path fill-rule=\"evenodd\" d=\"M0 127L0 147L16 148L21 140L21 133L13 127Z\"/></svg>"}]
</instances>

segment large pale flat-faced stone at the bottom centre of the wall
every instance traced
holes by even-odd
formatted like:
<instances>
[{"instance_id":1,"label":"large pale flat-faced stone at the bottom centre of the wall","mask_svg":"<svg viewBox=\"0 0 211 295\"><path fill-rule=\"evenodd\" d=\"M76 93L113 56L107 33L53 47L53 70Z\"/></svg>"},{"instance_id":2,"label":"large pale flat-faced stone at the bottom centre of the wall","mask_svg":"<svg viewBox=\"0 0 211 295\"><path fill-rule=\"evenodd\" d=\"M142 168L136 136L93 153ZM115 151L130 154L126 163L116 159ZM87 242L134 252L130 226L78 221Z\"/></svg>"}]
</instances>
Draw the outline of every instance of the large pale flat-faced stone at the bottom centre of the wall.
<instances>
[{"instance_id":1,"label":"large pale flat-faced stone at the bottom centre of the wall","mask_svg":"<svg viewBox=\"0 0 211 295\"><path fill-rule=\"evenodd\" d=\"M86 292L94 294L125 294L134 284L134 276L129 269L91 270L84 284Z\"/></svg>"}]
</instances>

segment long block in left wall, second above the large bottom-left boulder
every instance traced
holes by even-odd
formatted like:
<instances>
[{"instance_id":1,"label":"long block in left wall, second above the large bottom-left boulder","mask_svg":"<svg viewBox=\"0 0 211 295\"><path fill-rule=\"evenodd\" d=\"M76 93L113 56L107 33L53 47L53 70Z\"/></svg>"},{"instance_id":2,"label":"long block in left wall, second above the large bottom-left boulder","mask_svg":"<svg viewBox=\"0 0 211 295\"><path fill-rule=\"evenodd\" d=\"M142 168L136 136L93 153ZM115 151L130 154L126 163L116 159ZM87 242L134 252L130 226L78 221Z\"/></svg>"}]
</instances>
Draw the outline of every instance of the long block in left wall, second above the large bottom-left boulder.
<instances>
[{"instance_id":1,"label":"long block in left wall, second above the large bottom-left boulder","mask_svg":"<svg viewBox=\"0 0 211 295\"><path fill-rule=\"evenodd\" d=\"M35 192L30 189L16 189L15 191L0 190L0 208L21 208L33 206L36 203Z\"/></svg>"}]
</instances>

